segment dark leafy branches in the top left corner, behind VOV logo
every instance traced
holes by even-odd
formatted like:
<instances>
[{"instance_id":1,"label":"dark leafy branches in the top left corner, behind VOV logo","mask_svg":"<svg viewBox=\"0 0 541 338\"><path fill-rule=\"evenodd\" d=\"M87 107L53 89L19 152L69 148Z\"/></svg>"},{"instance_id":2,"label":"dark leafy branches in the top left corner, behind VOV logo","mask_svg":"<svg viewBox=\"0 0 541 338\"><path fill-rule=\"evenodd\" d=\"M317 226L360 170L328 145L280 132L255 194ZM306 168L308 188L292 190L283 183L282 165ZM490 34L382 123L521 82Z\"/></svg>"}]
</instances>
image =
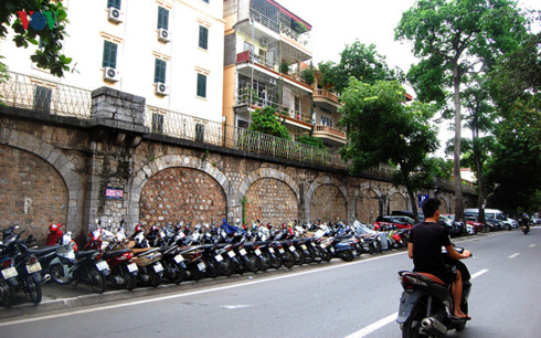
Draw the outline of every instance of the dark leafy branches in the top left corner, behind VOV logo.
<instances>
[{"instance_id":1,"label":"dark leafy branches in the top left corner, behind VOV logo","mask_svg":"<svg viewBox=\"0 0 541 338\"><path fill-rule=\"evenodd\" d=\"M54 24L47 24L42 30L34 30L31 24L25 29L19 11L35 11L53 13ZM41 46L30 59L41 68L51 71L55 76L62 76L70 71L71 57L62 54L62 40L66 35L65 24L67 14L62 1L50 0L2 0L0 2L0 38L6 38L8 28L13 29L13 42L18 47L28 47L29 44ZM0 62L0 72L6 74L6 65Z\"/></svg>"}]
</instances>

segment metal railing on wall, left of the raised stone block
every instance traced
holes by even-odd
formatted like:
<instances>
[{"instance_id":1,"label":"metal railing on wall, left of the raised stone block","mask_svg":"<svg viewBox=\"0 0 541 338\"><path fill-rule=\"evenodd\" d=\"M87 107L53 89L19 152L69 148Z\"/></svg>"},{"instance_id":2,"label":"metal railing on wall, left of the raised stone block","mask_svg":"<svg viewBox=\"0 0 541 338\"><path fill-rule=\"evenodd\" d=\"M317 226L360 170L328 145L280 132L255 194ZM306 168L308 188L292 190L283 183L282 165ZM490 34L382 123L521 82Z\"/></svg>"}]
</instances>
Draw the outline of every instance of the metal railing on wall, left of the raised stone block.
<instances>
[{"instance_id":1,"label":"metal railing on wall, left of the raised stone block","mask_svg":"<svg viewBox=\"0 0 541 338\"><path fill-rule=\"evenodd\" d=\"M0 82L0 102L7 106L52 115L91 118L91 91L38 76L9 72Z\"/></svg>"}]
</instances>

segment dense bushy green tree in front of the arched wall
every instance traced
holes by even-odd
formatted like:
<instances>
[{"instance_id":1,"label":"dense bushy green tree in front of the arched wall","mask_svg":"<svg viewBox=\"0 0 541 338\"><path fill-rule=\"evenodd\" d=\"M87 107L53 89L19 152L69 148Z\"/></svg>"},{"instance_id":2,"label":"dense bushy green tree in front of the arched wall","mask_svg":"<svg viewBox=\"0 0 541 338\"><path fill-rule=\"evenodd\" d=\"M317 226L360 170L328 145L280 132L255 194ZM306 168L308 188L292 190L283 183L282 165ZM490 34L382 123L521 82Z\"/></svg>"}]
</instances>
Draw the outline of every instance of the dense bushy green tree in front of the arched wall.
<instances>
[{"instance_id":1,"label":"dense bushy green tree in front of the arched wall","mask_svg":"<svg viewBox=\"0 0 541 338\"><path fill-rule=\"evenodd\" d=\"M431 180L426 155L438 146L436 128L429 123L435 108L418 102L405 105L405 91L396 81L370 85L351 77L340 99L339 124L348 133L348 145L340 151L351 161L351 171L394 165L393 183L407 189L416 218L414 192Z\"/></svg>"}]
</instances>

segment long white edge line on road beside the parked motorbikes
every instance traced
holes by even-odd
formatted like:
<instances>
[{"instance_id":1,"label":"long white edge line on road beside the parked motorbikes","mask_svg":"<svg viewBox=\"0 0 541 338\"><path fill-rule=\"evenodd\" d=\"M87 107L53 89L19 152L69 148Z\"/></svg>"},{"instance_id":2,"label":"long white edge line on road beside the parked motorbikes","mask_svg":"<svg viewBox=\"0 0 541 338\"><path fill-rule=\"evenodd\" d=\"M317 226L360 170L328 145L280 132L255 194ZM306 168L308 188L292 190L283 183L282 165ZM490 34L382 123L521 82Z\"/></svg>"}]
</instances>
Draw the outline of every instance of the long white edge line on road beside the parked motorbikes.
<instances>
[{"instance_id":1,"label":"long white edge line on road beside the parked motorbikes","mask_svg":"<svg viewBox=\"0 0 541 338\"><path fill-rule=\"evenodd\" d=\"M88 313L95 313L95 311L100 311L100 310L114 309L114 308L119 308L119 307L136 306L136 305L141 305L141 304L147 304L147 303L161 302L161 300L174 299L174 298L181 298L181 297L188 297L188 296L193 296L193 295L199 295L199 294L205 294L205 293L212 293L212 292L220 292L220 291L230 289L230 288L244 287L244 286L248 286L248 285L253 285L253 284L267 283L267 282L286 279L286 278L293 278L293 277L296 277L296 276L314 274L314 273L323 272L323 271L333 270L333 268L339 268L339 267L352 266L352 265L362 264L362 263L370 262L370 261L378 261L378 260L382 260L382 258L385 258L385 257L392 257L392 256L396 256L396 255L403 255L403 254L406 254L406 253L407 252L399 252L399 253L389 254L389 255L384 255L384 256L371 257L371 258L368 258L368 260L351 262L351 263L348 263L348 264L337 264L337 265L332 265L332 266L327 266L327 267L321 267L321 268L315 268L315 270L310 270L310 271L304 271L304 272L299 272L299 273L295 273L295 274L287 274L287 275L268 277L268 278L262 278L262 279L251 279L250 282L242 282L242 283L236 283L236 284L231 284L231 285L225 285L225 286L216 286L216 287L211 287L211 288L205 288L205 289L200 289L200 291L194 291L194 292L189 292L189 293L179 293L179 294L163 296L163 297L157 297L157 298L150 298L150 299L142 299L142 300L135 300L135 302L121 303L121 304L114 304L114 305L107 305L107 306L99 306L99 307L94 307L94 308L85 308L85 309L79 309L79 310L72 310L70 313L62 313L62 314L54 314L54 315L45 315L45 316L39 316L39 317L33 317L33 318L15 319L15 320L0 323L0 327L2 327L2 326L9 326L9 325L17 325L17 324L25 324L25 323L39 321L39 320L45 320L45 319L52 319L52 318L67 317L67 316L73 316L73 315L88 314Z\"/></svg>"}]
</instances>

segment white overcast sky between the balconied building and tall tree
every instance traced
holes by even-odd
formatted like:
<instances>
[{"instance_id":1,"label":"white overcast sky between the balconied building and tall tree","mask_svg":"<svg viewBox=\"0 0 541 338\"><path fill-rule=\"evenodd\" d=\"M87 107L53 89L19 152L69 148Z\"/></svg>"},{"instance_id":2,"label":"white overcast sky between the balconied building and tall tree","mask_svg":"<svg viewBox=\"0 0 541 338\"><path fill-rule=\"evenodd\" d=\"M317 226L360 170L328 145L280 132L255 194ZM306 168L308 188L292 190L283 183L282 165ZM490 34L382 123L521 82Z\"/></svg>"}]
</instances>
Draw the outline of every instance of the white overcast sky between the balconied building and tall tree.
<instances>
[{"instance_id":1,"label":"white overcast sky between the balconied building and tall tree","mask_svg":"<svg viewBox=\"0 0 541 338\"><path fill-rule=\"evenodd\" d=\"M277 0L282 6L311 24L308 49L314 65L321 61L340 60L340 52L356 39L367 45L374 44L385 56L390 68L399 66L407 72L416 63L410 42L394 41L394 29L402 13L413 7L415 0ZM522 8L541 10L539 0L521 0ZM410 93L412 89L406 87ZM414 95L415 93L410 93ZM463 130L468 137L469 130ZM445 157L443 147L454 137L447 125L439 127L441 149L436 156Z\"/></svg>"}]
</instances>

